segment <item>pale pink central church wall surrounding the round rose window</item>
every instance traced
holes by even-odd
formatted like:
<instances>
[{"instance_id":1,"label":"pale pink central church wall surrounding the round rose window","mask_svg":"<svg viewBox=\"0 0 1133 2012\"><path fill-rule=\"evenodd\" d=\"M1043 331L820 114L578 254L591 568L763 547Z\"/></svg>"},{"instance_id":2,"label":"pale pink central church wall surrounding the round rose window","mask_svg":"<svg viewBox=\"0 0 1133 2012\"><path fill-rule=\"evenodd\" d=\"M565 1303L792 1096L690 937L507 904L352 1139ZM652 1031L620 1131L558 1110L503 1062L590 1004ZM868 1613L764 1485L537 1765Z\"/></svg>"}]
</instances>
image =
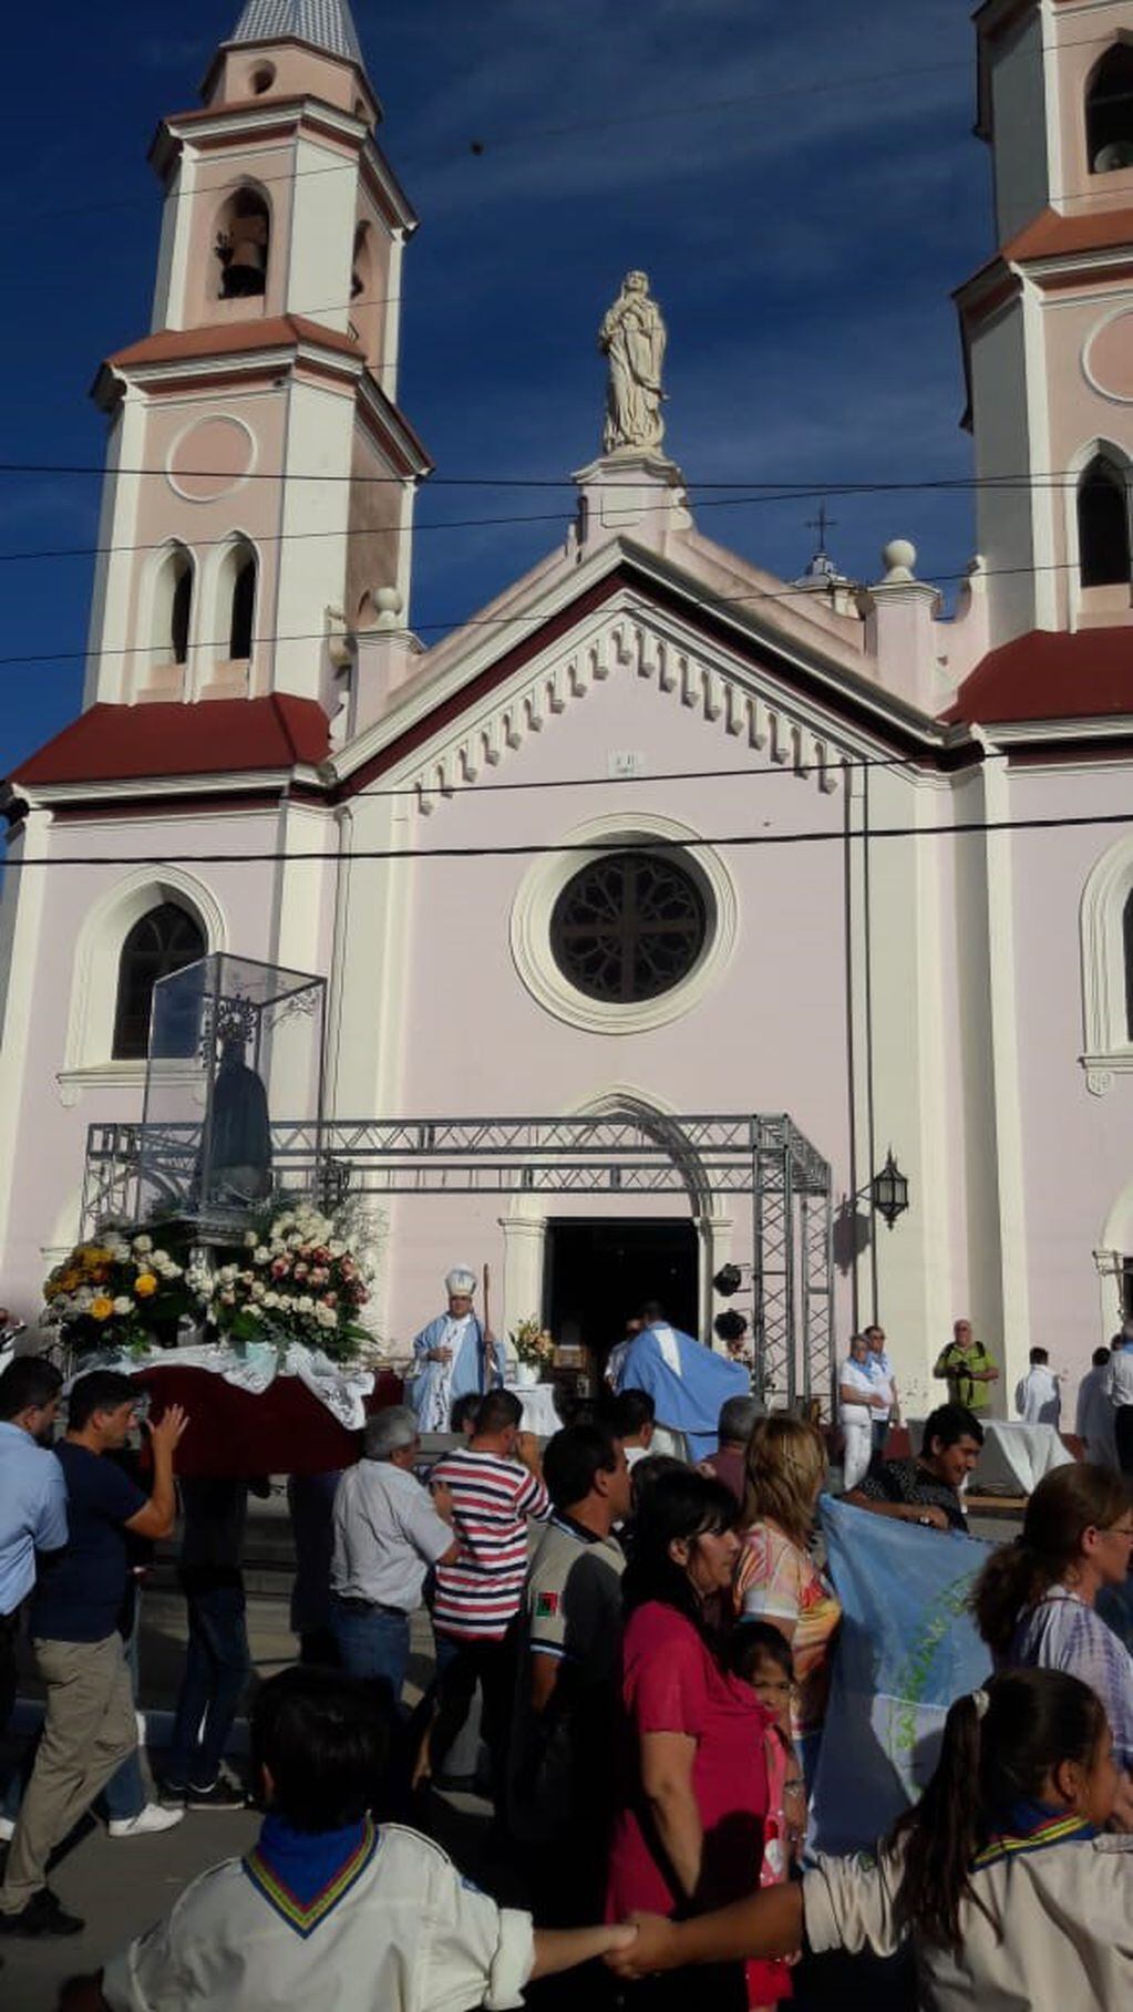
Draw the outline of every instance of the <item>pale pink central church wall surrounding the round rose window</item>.
<instances>
[{"instance_id":1,"label":"pale pink central church wall surrounding the round rose window","mask_svg":"<svg viewBox=\"0 0 1133 2012\"><path fill-rule=\"evenodd\" d=\"M531 734L491 779L545 785L602 775L606 750L646 754L648 773L745 771L765 757L731 740L720 724L684 710L624 674L568 704ZM469 793L417 821L415 843L491 847L555 845L614 809L658 811L706 837L743 831L839 831L841 795L823 797L765 767L735 783L650 783L531 793ZM402 1113L568 1115L634 1086L676 1113L787 1111L835 1165L835 1197L851 1187L845 1048L845 887L839 845L720 849L739 899L733 960L708 996L650 1032L598 1036L555 1018L527 992L509 942L509 917L531 861L465 859L419 863L415 928L404 976ZM547 1195L547 1215L688 1215L680 1197L570 1201ZM735 1251L751 1255L751 1217L739 1197L716 1207L735 1219ZM392 1213L396 1280L388 1308L398 1338L437 1302L443 1253L493 1262L503 1272L499 1217L509 1199L398 1203ZM845 1292L841 1296L845 1300ZM509 1310L515 1314L515 1310ZM519 1312L535 1312L523 1308ZM618 1312L618 1310L614 1310ZM845 1312L839 1308L839 1324Z\"/></svg>"}]
</instances>

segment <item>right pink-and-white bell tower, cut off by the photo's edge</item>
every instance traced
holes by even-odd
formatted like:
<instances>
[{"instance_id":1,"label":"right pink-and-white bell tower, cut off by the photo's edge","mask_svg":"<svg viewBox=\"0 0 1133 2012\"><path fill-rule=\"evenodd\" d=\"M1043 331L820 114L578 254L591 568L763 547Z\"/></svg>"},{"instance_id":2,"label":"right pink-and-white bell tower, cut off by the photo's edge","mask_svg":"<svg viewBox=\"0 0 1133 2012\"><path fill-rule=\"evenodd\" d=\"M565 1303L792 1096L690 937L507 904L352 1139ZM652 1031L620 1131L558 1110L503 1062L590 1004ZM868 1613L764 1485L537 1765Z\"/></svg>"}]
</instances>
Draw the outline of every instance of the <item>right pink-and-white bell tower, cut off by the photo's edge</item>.
<instances>
[{"instance_id":1,"label":"right pink-and-white bell tower, cut off by the photo's edge","mask_svg":"<svg viewBox=\"0 0 1133 2012\"><path fill-rule=\"evenodd\" d=\"M986 0L960 290L992 644L1133 624L1133 0Z\"/></svg>"}]
</instances>

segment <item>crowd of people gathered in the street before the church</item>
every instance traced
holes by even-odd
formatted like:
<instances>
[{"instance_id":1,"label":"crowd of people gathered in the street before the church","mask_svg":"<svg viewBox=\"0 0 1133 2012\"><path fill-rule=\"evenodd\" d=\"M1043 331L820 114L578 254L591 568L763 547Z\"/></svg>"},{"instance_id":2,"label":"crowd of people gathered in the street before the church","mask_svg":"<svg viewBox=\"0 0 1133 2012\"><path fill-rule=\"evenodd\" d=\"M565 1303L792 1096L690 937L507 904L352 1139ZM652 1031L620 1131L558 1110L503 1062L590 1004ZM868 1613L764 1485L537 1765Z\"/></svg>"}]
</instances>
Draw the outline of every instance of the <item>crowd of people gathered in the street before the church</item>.
<instances>
[{"instance_id":1,"label":"crowd of people gathered in the street before the church","mask_svg":"<svg viewBox=\"0 0 1133 2012\"><path fill-rule=\"evenodd\" d=\"M922 1543L966 1531L998 1370L964 1328L938 1362L948 1402L896 1459L885 1334L853 1342L841 1406L861 1418L843 1416L843 1485L863 1543L867 1517L916 1525ZM435 1366L465 1340L483 1368L483 1330L457 1348L435 1338ZM423 1374L433 1416L437 1380ZM356 1467L304 1497L304 1660L252 1700L246 1785L221 1763L250 1674L239 1561L256 1481L181 1483L173 1748L133 1833L111 1817L111 1835L246 1795L264 1823L252 1851L74 1980L70 2012L320 1998L441 2012L527 1994L553 2008L578 2002L580 1964L598 2004L626 1994L668 2012L694 1990L747 2012L805 1994L815 1954L902 1948L932 2012L1129 2002L1133 1658L1097 1606L1133 1551L1117 1465L1067 1465L1036 1487L1018 1541L976 1579L988 1676L954 1700L924 1797L873 1861L831 1859L807 1845L841 1628L817 1541L821 1431L731 1394L712 1445L658 1453L654 1394L622 1382L539 1447L511 1390L485 1378L453 1394L443 1380L451 1437L435 1465L421 1410L392 1406L368 1420ZM135 1545L173 1529L185 1429L175 1406L147 1424L143 1489L121 1465L137 1386L80 1376L48 1451L58 1400L38 1358L0 1376L0 1720L24 1618L46 1696L10 1801L10 1944L83 1927L46 1881L48 1857L137 1769ZM431 1666L413 1656L421 1610ZM491 1891L429 1837L443 1831L439 1791L473 1779L493 1813Z\"/></svg>"}]
</instances>

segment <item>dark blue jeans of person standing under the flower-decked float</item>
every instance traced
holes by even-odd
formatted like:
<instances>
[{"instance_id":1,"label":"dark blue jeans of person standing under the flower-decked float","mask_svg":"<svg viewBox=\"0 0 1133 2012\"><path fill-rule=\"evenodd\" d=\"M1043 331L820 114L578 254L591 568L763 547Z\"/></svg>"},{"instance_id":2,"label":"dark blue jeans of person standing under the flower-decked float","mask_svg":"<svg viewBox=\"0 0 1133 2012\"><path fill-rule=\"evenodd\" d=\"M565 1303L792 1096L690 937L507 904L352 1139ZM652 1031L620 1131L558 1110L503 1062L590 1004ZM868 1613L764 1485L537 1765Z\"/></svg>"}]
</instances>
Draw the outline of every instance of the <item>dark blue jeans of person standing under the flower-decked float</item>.
<instances>
[{"instance_id":1,"label":"dark blue jeans of person standing under the flower-decked float","mask_svg":"<svg viewBox=\"0 0 1133 2012\"><path fill-rule=\"evenodd\" d=\"M211 1789L252 1668L244 1583L183 1589L189 1608L189 1646L177 1694L167 1779L173 1787Z\"/></svg>"}]
</instances>

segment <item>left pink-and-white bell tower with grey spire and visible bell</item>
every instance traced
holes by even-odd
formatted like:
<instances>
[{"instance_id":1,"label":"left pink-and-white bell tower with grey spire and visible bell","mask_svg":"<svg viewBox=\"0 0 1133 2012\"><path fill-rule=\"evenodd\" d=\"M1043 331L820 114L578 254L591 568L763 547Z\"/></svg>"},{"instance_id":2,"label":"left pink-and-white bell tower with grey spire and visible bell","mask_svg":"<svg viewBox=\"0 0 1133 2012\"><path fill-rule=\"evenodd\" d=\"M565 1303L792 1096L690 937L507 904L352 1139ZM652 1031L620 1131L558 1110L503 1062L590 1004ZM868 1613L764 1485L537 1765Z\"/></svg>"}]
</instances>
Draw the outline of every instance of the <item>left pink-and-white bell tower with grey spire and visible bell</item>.
<instances>
[{"instance_id":1,"label":"left pink-and-white bell tower with grey spire and visible bell","mask_svg":"<svg viewBox=\"0 0 1133 2012\"><path fill-rule=\"evenodd\" d=\"M417 217L348 0L248 0L201 99L151 147L151 332L95 382L111 445L85 704L290 692L334 712L372 596L409 610Z\"/></svg>"}]
</instances>

